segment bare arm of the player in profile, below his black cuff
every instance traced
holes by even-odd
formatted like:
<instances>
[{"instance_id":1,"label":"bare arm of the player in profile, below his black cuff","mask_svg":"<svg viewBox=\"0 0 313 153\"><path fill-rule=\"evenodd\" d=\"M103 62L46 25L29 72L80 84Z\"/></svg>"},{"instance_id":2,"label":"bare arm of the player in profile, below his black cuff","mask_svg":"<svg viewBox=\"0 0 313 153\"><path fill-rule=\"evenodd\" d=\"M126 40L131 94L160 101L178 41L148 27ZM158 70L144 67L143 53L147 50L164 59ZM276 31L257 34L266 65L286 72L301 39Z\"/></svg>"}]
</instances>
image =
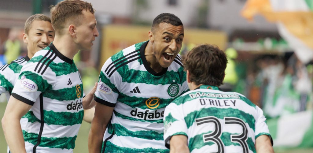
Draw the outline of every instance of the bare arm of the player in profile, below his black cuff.
<instances>
[{"instance_id":1,"label":"bare arm of the player in profile, below his black cuff","mask_svg":"<svg viewBox=\"0 0 313 153\"><path fill-rule=\"evenodd\" d=\"M2 128L11 152L26 153L20 120L31 107L12 96L8 101L2 118Z\"/></svg>"}]
</instances>

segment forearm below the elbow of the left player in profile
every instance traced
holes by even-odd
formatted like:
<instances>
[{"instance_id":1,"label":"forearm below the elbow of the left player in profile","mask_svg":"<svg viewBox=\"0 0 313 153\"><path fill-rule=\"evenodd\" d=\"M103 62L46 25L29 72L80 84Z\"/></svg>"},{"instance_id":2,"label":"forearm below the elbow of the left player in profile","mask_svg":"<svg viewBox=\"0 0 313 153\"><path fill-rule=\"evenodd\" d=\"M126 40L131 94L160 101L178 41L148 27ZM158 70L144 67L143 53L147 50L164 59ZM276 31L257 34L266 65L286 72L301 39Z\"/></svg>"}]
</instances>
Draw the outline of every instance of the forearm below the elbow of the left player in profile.
<instances>
[{"instance_id":1,"label":"forearm below the elbow of the left player in profile","mask_svg":"<svg viewBox=\"0 0 313 153\"><path fill-rule=\"evenodd\" d=\"M21 124L17 118L3 116L2 128L11 152L26 153Z\"/></svg>"}]
</instances>

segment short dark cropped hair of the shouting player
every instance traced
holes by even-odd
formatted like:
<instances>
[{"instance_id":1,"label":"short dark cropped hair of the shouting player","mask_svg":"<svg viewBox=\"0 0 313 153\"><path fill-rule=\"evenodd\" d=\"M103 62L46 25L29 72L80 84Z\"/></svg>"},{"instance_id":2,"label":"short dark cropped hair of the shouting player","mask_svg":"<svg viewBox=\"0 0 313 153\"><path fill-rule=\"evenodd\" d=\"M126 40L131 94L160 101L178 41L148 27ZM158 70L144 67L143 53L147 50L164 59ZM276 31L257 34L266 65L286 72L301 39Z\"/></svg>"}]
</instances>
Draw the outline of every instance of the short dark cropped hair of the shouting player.
<instances>
[{"instance_id":1,"label":"short dark cropped hair of the shouting player","mask_svg":"<svg viewBox=\"0 0 313 153\"><path fill-rule=\"evenodd\" d=\"M182 25L182 21L172 13L162 13L156 16L152 22L151 30L155 29L161 23L172 24L174 26Z\"/></svg>"}]
</instances>

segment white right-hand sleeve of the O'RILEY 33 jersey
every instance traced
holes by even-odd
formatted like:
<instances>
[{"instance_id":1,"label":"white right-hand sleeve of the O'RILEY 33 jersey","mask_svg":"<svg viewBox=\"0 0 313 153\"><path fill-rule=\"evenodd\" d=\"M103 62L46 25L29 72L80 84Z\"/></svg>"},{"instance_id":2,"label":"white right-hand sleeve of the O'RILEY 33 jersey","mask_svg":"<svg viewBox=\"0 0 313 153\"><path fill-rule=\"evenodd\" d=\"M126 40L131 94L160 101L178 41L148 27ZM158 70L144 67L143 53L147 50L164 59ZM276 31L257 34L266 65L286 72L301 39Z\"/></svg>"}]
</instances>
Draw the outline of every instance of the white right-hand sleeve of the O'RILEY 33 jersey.
<instances>
[{"instance_id":1,"label":"white right-hand sleeve of the O'RILEY 33 jersey","mask_svg":"<svg viewBox=\"0 0 313 153\"><path fill-rule=\"evenodd\" d=\"M258 117L256 118L256 121L255 121L255 139L259 137L260 135L270 136L269 128L266 124L266 118L263 115L262 109L256 106L256 110L257 110Z\"/></svg>"}]
</instances>

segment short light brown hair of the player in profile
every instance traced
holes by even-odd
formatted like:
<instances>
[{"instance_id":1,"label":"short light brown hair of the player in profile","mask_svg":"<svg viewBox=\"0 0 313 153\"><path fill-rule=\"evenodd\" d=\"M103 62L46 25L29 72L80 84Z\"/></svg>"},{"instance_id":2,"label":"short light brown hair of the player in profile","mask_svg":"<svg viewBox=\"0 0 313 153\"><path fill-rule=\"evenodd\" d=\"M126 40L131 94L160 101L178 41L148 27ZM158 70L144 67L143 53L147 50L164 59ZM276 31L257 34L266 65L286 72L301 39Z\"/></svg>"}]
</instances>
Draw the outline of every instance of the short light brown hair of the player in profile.
<instances>
[{"instance_id":1,"label":"short light brown hair of the player in profile","mask_svg":"<svg viewBox=\"0 0 313 153\"><path fill-rule=\"evenodd\" d=\"M68 22L79 26L81 24L81 18L83 17L83 10L95 13L91 3L81 0L64 0L57 3L55 6L51 6L51 21L55 32L62 34L62 29L67 28L65 26Z\"/></svg>"}]
</instances>

